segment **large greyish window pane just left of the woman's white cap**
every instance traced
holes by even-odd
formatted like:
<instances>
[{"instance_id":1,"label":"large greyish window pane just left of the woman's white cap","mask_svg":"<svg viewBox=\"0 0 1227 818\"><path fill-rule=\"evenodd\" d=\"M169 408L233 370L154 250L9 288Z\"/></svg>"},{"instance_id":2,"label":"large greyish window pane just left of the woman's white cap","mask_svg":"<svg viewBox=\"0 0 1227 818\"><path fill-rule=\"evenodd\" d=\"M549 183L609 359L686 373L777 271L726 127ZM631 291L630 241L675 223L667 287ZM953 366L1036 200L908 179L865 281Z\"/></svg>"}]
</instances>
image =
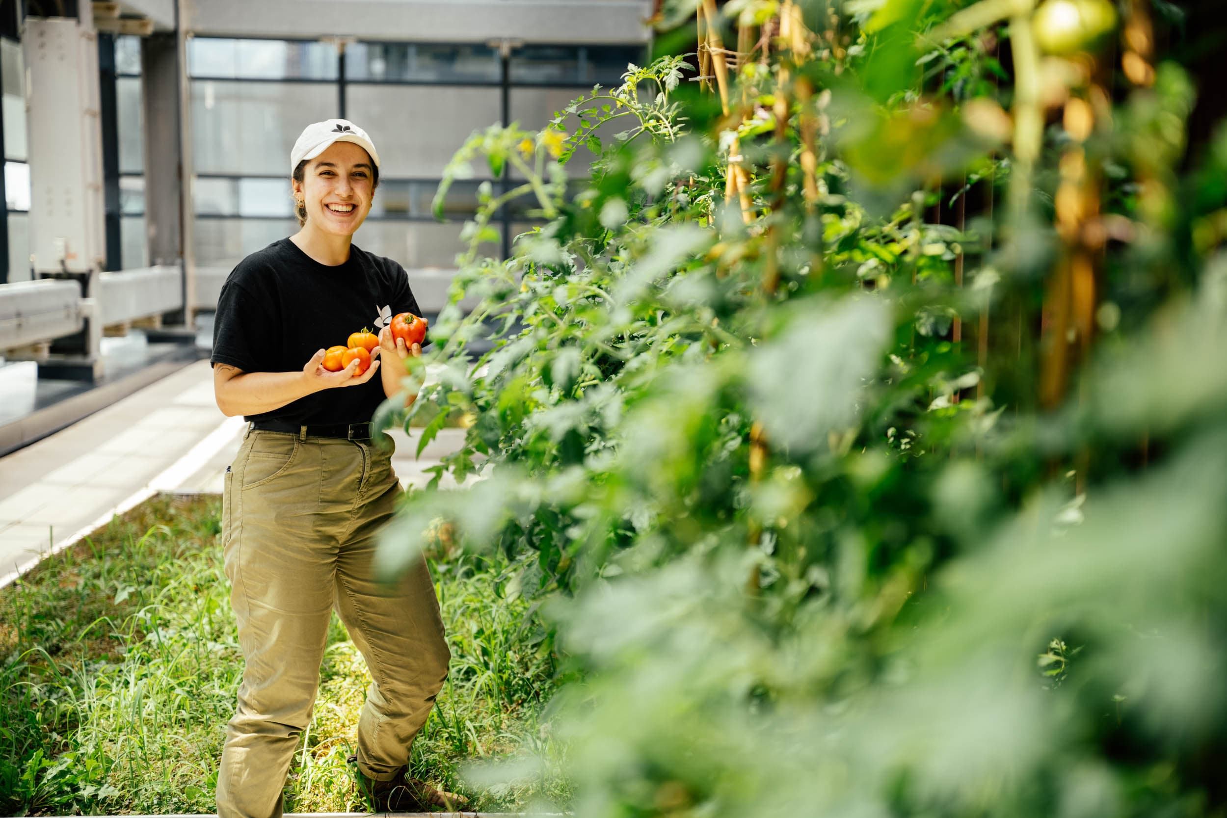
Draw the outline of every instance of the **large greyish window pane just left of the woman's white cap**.
<instances>
[{"instance_id":1,"label":"large greyish window pane just left of the woman's white cap","mask_svg":"<svg viewBox=\"0 0 1227 818\"><path fill-rule=\"evenodd\" d=\"M290 148L294 140L309 123L336 117L336 102L334 86L194 80L191 151L195 170L285 174L288 184ZM372 136L379 145L378 136Z\"/></svg>"}]
</instances>

